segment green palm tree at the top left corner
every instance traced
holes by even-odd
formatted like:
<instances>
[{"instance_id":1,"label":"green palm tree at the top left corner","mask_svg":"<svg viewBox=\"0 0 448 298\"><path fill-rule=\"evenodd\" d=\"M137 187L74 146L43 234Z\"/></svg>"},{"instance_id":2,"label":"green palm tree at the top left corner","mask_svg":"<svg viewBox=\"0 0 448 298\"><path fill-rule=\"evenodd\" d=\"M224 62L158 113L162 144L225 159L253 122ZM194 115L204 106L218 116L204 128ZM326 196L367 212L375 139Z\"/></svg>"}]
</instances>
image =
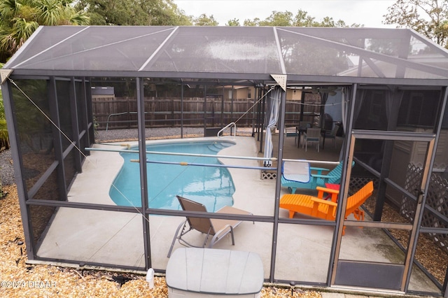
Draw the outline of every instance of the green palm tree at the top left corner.
<instances>
[{"instance_id":1,"label":"green palm tree at the top left corner","mask_svg":"<svg viewBox=\"0 0 448 298\"><path fill-rule=\"evenodd\" d=\"M0 1L0 62L6 62L39 25L88 24L83 11L76 11L73 0Z\"/></svg>"}]
</instances>

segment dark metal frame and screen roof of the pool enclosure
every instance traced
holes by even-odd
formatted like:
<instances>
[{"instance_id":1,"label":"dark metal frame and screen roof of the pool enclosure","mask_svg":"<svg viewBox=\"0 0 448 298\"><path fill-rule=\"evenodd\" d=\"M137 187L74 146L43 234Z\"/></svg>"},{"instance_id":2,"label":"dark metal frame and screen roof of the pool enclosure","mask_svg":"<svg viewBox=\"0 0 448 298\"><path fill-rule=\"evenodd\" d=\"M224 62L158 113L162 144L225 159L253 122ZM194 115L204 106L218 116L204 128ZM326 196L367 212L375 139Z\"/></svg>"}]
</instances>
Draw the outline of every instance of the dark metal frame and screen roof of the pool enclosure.
<instances>
[{"instance_id":1,"label":"dark metal frame and screen roof of the pool enclosure","mask_svg":"<svg viewBox=\"0 0 448 298\"><path fill-rule=\"evenodd\" d=\"M355 63L356 62L356 63ZM94 119L92 115L92 78L130 78L135 83L137 97L139 159L146 160L145 135L145 86L152 80L175 83L177 85L211 86L253 86L261 94L275 86L281 92L279 122L280 132L285 128L284 117L286 89L288 87L339 86L346 88L347 104L345 115L345 138L342 148L344 161L341 181L342 206L337 208L335 222L300 220L279 217L281 183L276 181L274 214L234 215L235 220L269 222L272 224L272 250L268 282L290 281L274 277L276 266L276 239L281 224L318 224L335 227L328 278L323 285L330 287L337 283L340 266L337 252L342 241L344 226L364 226L378 228L405 229L409 231L409 246L405 264L398 269L400 276L393 286L404 293L427 294L409 290L409 278L416 243L420 233L448 234L445 227L421 227L425 210L426 194L430 174L433 171L437 144L444 125L445 107L448 97L448 51L410 29L370 29L370 28L297 28L297 27L39 27L25 45L1 69L1 89L8 120L11 150L13 153L16 183L20 199L22 222L30 261L66 262L79 264L73 260L45 259L36 255L35 238L38 232L31 224L31 213L39 208L83 208L100 211L140 213L142 236L144 237L145 269L152 267L149 215L195 215L200 218L230 218L230 215L216 213L188 213L165 209L148 208L146 185L146 163L140 163L141 208L87 204L67 201L67 193L82 171L85 148L94 143ZM45 82L46 98L41 103L47 109L51 120L51 138L55 159L48 169L32 185L27 182L26 164L22 154L25 141L23 127L25 119L20 113L18 97L28 97L29 92L39 92L39 86L30 88L31 82ZM31 84L32 85L32 84ZM25 87L24 87L25 86ZM22 87L24 89L22 90ZM42 87L42 86L41 86ZM36 91L37 90L37 91ZM367 90L367 91L363 91ZM357 114L361 113L363 92L380 90L388 97L390 111L397 111L402 103L402 94L409 90L434 92L437 109L433 111L434 122L430 132L403 132L396 130L398 112L390 113L391 118L385 129L356 127ZM401 94L401 95L400 95ZM64 106L65 105L65 106ZM69 106L70 108L66 108ZM390 109L390 110L389 110ZM26 118L26 116L25 116ZM66 125L66 119L71 120ZM31 120L29 120L31 121ZM394 124L395 123L395 124ZM26 134L26 132L25 132ZM66 138L70 140L66 142ZM357 160L379 179L379 201L372 222L344 220L344 204L349 192L346 177L351 168L346 166L353 160L355 143L361 139L382 140L385 145L381 170ZM42 140L40 139L39 142ZM279 134L279 164L283 160L283 134ZM423 176L419 193L406 194L416 201L412 224L381 222L381 206L384 204L386 185L400 189L388 179L388 164L393 159L391 141L416 141L427 143ZM56 175L55 175L56 173ZM50 177L57 177L57 194L46 199L34 198ZM281 176L277 167L276 176ZM45 196L44 196L45 197ZM382 200L382 201L381 201ZM42 236L42 235L38 235ZM38 237L37 237L38 238ZM116 267L114 264L86 262L90 266ZM83 262L85 264L85 262ZM140 269L120 266L123 269ZM395 267L394 267L395 268ZM165 271L163 268L155 268ZM387 267L386 269L390 269ZM348 278L353 278L349 276ZM445 276L440 293L448 297L448 278ZM350 281L348 281L350 284ZM305 283L306 284L306 283ZM314 283L309 283L313 285ZM433 294L433 293L431 293Z\"/></svg>"}]
</instances>

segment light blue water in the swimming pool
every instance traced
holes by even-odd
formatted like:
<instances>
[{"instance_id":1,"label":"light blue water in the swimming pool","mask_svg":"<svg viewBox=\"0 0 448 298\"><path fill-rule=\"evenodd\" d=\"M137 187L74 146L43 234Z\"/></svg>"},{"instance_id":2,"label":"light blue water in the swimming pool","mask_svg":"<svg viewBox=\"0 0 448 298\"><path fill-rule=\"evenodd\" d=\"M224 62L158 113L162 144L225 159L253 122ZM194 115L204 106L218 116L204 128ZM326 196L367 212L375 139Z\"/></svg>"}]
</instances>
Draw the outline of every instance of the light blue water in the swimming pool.
<instances>
[{"instance_id":1,"label":"light blue water in the swimming pool","mask_svg":"<svg viewBox=\"0 0 448 298\"><path fill-rule=\"evenodd\" d=\"M146 147L146 151L183 152L216 155L230 142L179 142ZM109 191L118 206L141 206L138 153L120 153L125 159L122 169ZM190 157L148 154L150 161L220 164L214 157ZM148 200L150 208L180 210L176 195L198 201L214 212L223 206L232 206L235 185L228 169L216 166L181 166L179 164L152 164L148 167Z\"/></svg>"}]
</instances>

